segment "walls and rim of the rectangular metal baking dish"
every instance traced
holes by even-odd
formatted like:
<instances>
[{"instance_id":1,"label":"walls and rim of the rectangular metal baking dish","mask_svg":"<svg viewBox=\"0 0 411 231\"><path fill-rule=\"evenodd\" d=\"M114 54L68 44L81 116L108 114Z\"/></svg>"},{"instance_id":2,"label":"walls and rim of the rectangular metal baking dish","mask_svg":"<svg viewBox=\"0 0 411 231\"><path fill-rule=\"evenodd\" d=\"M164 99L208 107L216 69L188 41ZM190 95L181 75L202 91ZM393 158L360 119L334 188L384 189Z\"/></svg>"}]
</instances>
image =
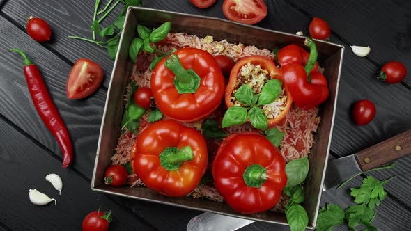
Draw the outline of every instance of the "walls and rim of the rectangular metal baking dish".
<instances>
[{"instance_id":1,"label":"walls and rim of the rectangular metal baking dish","mask_svg":"<svg viewBox=\"0 0 411 231\"><path fill-rule=\"evenodd\" d=\"M286 216L280 212L269 211L251 215L238 214L225 203L191 197L170 198L146 188L112 187L104 184L104 170L111 165L110 159L114 155L114 148L116 148L118 137L121 134L121 118L124 109L123 95L126 86L130 83L130 74L132 72L132 62L128 57L128 49L131 40L136 35L137 23L153 28L164 22L171 22L172 32L185 32L197 35L199 38L212 35L214 40L226 39L228 42L242 42L245 45L256 45L258 48L267 49L284 47L290 43L304 46L304 37L290 33L262 29L212 17L140 7L129 8L107 93L91 189L127 198L286 225ZM319 61L325 69L324 74L329 83L329 98L321 105L320 116L322 120L315 136L311 154L309 154L311 168L305 189L306 200L304 202L304 208L307 209L309 215L309 226L307 228L314 228L316 225L331 142L344 50L341 45L320 40L316 40L316 45Z\"/></svg>"}]
</instances>

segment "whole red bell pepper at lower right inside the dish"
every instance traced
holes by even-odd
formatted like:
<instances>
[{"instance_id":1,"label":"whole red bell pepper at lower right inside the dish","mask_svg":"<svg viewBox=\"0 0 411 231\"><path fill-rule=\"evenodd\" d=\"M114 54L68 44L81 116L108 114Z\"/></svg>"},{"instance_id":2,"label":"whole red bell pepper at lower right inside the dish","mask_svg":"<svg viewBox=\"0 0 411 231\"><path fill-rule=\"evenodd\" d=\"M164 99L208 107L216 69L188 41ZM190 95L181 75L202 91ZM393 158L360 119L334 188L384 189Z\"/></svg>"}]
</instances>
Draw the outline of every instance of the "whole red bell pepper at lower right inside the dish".
<instances>
[{"instance_id":1,"label":"whole red bell pepper at lower right inside the dish","mask_svg":"<svg viewBox=\"0 0 411 231\"><path fill-rule=\"evenodd\" d=\"M251 132L224 139L212 163L212 176L227 204L244 214L274 207L287 184L286 163L278 148Z\"/></svg>"}]
</instances>

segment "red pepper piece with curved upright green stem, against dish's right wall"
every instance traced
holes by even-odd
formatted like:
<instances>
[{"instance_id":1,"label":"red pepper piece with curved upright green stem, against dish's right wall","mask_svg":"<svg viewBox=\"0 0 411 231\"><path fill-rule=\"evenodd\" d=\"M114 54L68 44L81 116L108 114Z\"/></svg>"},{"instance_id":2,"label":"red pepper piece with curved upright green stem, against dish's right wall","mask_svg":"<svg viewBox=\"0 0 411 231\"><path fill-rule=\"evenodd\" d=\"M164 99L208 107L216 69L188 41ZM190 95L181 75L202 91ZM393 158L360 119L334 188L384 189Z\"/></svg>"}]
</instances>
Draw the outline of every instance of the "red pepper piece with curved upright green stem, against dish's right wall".
<instances>
[{"instance_id":1,"label":"red pepper piece with curved upright green stem, against dish's right wall","mask_svg":"<svg viewBox=\"0 0 411 231\"><path fill-rule=\"evenodd\" d=\"M316 71L317 48L311 38L306 38L304 44L310 48L309 58L304 49L297 45L288 45L278 53L284 82L288 87L294 102L301 109L312 109L327 99L329 95L327 79ZM305 64L305 67L303 66ZM315 71L314 71L315 70Z\"/></svg>"}]
</instances>

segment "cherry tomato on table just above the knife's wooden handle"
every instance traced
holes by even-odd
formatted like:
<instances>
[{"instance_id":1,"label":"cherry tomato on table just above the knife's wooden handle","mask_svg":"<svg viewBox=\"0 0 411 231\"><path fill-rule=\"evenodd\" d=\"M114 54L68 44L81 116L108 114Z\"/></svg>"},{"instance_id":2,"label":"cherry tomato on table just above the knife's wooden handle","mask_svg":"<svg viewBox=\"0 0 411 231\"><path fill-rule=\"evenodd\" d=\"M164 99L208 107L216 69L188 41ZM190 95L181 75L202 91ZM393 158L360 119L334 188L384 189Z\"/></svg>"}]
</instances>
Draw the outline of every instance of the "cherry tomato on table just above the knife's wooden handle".
<instances>
[{"instance_id":1,"label":"cherry tomato on table just above the knife's wooden handle","mask_svg":"<svg viewBox=\"0 0 411 231\"><path fill-rule=\"evenodd\" d=\"M373 120L375 111L373 102L367 99L362 99L356 102L352 107L352 116L357 125L366 125Z\"/></svg>"}]
</instances>

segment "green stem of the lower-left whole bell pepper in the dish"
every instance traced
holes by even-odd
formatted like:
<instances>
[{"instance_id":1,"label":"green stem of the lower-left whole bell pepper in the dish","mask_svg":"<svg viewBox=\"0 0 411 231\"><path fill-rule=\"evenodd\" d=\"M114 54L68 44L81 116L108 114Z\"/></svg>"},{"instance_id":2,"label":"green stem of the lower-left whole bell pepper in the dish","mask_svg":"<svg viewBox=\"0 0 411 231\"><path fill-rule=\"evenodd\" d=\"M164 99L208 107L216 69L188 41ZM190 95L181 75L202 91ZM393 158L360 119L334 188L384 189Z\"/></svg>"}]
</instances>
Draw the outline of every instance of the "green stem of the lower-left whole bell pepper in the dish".
<instances>
[{"instance_id":1,"label":"green stem of the lower-left whole bell pepper in the dish","mask_svg":"<svg viewBox=\"0 0 411 231\"><path fill-rule=\"evenodd\" d=\"M192 161L194 155L190 146L183 148L168 147L160 154L160 164L166 170L178 170L185 161Z\"/></svg>"}]
</instances>

